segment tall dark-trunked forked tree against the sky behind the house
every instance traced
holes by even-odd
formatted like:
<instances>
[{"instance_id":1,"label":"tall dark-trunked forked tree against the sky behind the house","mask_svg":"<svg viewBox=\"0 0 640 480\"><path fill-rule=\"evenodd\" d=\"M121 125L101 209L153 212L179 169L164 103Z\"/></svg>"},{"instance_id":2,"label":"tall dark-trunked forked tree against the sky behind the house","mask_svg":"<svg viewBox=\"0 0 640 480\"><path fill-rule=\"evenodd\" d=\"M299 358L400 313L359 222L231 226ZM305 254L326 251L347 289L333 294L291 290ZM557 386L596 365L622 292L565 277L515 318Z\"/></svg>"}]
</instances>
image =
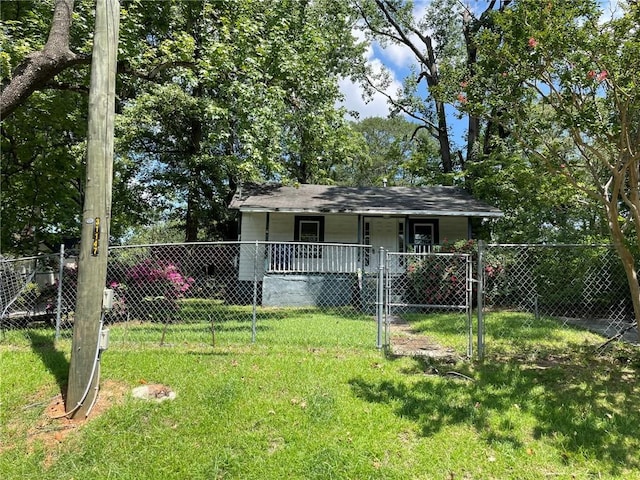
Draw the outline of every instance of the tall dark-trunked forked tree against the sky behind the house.
<instances>
[{"instance_id":1,"label":"tall dark-trunked forked tree against the sky behind the house","mask_svg":"<svg viewBox=\"0 0 640 480\"><path fill-rule=\"evenodd\" d=\"M364 21L364 29L372 40L382 45L395 44L408 49L415 59L411 72L404 79L397 96L387 98L396 113L417 122L437 140L446 183L453 174L472 161L479 150L480 119L468 115L466 148L456 146L449 125L453 106L464 104L466 98L457 95L458 85L475 75L477 52L474 32L490 28L491 13L507 7L510 0L482 2L484 9L476 12L458 0L433 0L423 12L417 12L409 0L354 0ZM369 88L385 92L388 76L364 75ZM461 115L464 115L461 110ZM491 123L486 124L491 132Z\"/></svg>"}]
</instances>

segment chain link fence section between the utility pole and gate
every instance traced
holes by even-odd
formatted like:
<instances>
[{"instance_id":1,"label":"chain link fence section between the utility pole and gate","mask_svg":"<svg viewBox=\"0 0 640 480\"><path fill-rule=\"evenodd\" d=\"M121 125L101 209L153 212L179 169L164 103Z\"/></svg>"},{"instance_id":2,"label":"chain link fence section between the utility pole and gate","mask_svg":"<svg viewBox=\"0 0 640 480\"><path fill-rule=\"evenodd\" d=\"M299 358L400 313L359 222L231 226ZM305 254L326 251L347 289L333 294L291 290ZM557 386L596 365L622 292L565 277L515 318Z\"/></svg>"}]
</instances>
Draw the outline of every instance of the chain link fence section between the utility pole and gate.
<instances>
[{"instance_id":1,"label":"chain link fence section between the utility pole and gate","mask_svg":"<svg viewBox=\"0 0 640 480\"><path fill-rule=\"evenodd\" d=\"M373 321L370 247L271 242L113 247L105 323L112 341L248 343L264 320L314 315ZM373 344L374 339L371 339Z\"/></svg>"}]
</instances>

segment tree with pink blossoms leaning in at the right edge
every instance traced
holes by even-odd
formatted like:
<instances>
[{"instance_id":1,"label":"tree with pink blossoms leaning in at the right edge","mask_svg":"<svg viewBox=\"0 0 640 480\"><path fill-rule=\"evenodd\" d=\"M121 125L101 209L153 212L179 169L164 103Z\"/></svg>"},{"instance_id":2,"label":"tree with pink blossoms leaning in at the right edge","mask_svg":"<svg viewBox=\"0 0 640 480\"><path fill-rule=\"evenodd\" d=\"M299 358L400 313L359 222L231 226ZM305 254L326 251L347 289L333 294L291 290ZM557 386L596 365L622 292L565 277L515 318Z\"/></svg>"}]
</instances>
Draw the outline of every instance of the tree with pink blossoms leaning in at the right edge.
<instances>
[{"instance_id":1,"label":"tree with pink blossoms leaning in at the right edge","mask_svg":"<svg viewBox=\"0 0 640 480\"><path fill-rule=\"evenodd\" d=\"M594 0L516 2L494 16L497 31L479 32L466 94L470 111L598 206L639 320L640 5L621 8L607 19Z\"/></svg>"}]
</instances>

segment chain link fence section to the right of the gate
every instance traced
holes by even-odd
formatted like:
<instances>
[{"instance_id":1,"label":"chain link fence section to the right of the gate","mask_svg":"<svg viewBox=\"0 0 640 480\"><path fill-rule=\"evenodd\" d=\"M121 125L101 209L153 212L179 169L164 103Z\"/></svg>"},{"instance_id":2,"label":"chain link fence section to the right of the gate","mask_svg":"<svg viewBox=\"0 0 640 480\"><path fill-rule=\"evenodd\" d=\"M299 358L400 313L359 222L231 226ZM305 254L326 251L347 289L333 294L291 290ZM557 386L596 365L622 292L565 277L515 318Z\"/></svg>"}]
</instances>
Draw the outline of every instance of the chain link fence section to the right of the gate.
<instances>
[{"instance_id":1,"label":"chain link fence section to the right of the gate","mask_svg":"<svg viewBox=\"0 0 640 480\"><path fill-rule=\"evenodd\" d=\"M607 245L480 244L480 354L637 342L624 269Z\"/></svg>"}]
</instances>

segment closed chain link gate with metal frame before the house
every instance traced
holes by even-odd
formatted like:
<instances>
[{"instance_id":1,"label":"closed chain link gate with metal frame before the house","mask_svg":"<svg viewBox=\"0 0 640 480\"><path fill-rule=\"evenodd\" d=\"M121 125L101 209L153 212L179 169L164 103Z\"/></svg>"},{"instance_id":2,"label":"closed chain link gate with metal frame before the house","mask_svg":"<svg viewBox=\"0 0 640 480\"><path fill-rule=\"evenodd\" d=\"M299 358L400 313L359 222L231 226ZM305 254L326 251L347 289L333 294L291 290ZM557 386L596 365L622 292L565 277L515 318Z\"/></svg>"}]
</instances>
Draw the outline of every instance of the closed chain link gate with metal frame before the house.
<instances>
[{"instance_id":1,"label":"closed chain link gate with metal frame before the house","mask_svg":"<svg viewBox=\"0 0 640 480\"><path fill-rule=\"evenodd\" d=\"M386 252L381 277L387 349L430 357L472 356L471 255Z\"/></svg>"}]
</instances>

